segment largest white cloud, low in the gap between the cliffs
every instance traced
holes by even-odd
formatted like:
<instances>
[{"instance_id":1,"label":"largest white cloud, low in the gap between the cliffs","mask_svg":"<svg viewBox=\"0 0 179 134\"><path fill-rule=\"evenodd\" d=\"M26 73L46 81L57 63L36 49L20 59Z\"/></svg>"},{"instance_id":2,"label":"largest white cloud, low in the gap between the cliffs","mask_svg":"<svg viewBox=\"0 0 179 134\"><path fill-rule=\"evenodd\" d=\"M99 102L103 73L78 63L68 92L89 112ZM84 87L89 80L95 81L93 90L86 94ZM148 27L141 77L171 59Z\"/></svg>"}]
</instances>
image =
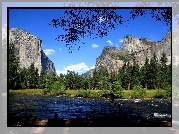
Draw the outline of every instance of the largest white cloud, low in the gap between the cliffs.
<instances>
[{"instance_id":1,"label":"largest white cloud, low in the gap between the cliffs","mask_svg":"<svg viewBox=\"0 0 179 134\"><path fill-rule=\"evenodd\" d=\"M89 68L84 62L78 63L76 65L71 64L70 66L64 67L63 70L57 70L57 74L60 75L60 73L62 74L66 74L67 70L69 71L74 71L75 73L85 73L86 71L89 71L90 69L94 68L94 66L92 66L91 68Z\"/></svg>"}]
</instances>

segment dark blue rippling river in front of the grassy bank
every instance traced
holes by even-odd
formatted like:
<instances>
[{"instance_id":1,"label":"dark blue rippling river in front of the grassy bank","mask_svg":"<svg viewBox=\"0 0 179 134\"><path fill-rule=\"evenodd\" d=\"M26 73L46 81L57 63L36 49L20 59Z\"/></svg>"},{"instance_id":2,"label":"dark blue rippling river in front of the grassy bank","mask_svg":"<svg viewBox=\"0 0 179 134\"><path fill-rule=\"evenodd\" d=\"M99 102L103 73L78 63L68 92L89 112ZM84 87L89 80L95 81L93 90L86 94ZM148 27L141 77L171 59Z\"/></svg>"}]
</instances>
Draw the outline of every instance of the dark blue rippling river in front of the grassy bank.
<instances>
[{"instance_id":1,"label":"dark blue rippling river in front of the grassy bank","mask_svg":"<svg viewBox=\"0 0 179 134\"><path fill-rule=\"evenodd\" d=\"M47 97L35 95L10 95L9 113L23 117L32 115L40 119L116 117L128 114L131 117L147 117L171 121L171 101L165 99L109 99ZM132 118L131 118L132 119Z\"/></svg>"}]
</instances>

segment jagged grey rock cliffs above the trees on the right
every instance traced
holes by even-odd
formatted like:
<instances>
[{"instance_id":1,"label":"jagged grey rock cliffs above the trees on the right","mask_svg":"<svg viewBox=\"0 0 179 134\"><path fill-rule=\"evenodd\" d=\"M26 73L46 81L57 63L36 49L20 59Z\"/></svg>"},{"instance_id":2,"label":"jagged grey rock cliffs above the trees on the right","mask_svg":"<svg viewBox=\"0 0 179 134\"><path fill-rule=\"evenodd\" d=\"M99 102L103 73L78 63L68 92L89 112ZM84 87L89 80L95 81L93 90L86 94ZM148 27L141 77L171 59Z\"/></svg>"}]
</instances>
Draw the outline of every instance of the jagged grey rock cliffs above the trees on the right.
<instances>
[{"instance_id":1,"label":"jagged grey rock cliffs above the trees on the right","mask_svg":"<svg viewBox=\"0 0 179 134\"><path fill-rule=\"evenodd\" d=\"M120 49L115 47L104 47L102 54L96 59L95 68L107 68L109 72L117 72L119 68L126 64L133 64L135 61L139 66L143 66L146 57L151 59L153 54L160 60L162 53L166 53L168 62L171 63L171 31L158 42L147 38L138 39L135 36L127 35Z\"/></svg>"}]
</instances>

